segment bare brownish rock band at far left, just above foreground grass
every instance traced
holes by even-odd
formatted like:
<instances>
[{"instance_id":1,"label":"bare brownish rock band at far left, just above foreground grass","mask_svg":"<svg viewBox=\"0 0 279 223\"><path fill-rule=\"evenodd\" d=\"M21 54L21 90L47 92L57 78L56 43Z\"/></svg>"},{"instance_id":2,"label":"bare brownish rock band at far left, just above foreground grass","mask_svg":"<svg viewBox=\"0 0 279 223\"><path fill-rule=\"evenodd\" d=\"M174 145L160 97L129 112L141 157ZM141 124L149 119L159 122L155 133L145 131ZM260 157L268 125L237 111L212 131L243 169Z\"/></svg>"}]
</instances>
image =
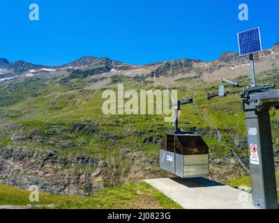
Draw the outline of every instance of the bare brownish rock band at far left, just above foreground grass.
<instances>
[{"instance_id":1,"label":"bare brownish rock band at far left, just above foreground grass","mask_svg":"<svg viewBox=\"0 0 279 223\"><path fill-rule=\"evenodd\" d=\"M0 150L0 163L0 183L24 189L38 185L54 194L89 195L105 185L98 160L91 157L70 160L57 157L56 151L8 146Z\"/></svg>"}]
</instances>

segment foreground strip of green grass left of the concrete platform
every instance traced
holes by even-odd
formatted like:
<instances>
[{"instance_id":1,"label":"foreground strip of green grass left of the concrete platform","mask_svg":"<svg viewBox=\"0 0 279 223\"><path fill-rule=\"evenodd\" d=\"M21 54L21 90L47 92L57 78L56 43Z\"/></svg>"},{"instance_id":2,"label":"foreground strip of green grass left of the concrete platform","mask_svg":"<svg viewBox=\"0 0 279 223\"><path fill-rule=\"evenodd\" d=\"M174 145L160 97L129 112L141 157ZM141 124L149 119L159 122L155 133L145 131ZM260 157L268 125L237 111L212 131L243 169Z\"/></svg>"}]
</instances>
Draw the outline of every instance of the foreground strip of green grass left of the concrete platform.
<instances>
[{"instance_id":1,"label":"foreground strip of green grass left of the concrete platform","mask_svg":"<svg viewBox=\"0 0 279 223\"><path fill-rule=\"evenodd\" d=\"M59 196L40 192L39 201L31 202L29 194L27 190L0 185L0 205L58 209L181 208L179 204L143 182L105 188L91 197Z\"/></svg>"}]
</instances>

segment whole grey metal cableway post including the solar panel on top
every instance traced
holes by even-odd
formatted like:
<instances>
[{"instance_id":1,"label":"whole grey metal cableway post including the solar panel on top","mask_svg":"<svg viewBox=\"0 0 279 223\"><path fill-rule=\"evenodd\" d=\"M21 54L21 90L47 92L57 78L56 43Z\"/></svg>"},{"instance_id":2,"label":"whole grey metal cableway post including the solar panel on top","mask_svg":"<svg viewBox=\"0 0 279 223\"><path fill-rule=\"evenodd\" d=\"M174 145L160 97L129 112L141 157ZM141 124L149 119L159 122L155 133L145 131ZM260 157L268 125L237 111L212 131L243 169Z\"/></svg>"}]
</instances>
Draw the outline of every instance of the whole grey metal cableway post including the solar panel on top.
<instances>
[{"instance_id":1,"label":"whole grey metal cableway post including the solar panel on top","mask_svg":"<svg viewBox=\"0 0 279 223\"><path fill-rule=\"evenodd\" d=\"M276 174L269 109L279 108L279 91L270 91L274 84L256 84L253 53L262 51L259 28L237 34L239 55L249 54L251 86L241 93L246 112L252 203L259 208L278 208Z\"/></svg>"}]
</instances>

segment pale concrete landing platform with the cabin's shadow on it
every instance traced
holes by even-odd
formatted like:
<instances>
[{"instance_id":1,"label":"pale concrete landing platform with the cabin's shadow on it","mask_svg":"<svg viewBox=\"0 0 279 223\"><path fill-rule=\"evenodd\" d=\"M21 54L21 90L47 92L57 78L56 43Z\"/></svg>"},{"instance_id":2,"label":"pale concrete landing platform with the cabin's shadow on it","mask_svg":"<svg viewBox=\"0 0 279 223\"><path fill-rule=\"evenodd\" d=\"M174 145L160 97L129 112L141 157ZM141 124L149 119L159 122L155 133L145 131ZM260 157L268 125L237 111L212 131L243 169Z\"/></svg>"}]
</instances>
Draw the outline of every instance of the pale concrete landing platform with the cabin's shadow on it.
<instances>
[{"instance_id":1,"label":"pale concrete landing platform with the cabin's shadow on it","mask_svg":"<svg viewBox=\"0 0 279 223\"><path fill-rule=\"evenodd\" d=\"M255 209L252 195L206 178L144 180L186 209Z\"/></svg>"}]
</instances>

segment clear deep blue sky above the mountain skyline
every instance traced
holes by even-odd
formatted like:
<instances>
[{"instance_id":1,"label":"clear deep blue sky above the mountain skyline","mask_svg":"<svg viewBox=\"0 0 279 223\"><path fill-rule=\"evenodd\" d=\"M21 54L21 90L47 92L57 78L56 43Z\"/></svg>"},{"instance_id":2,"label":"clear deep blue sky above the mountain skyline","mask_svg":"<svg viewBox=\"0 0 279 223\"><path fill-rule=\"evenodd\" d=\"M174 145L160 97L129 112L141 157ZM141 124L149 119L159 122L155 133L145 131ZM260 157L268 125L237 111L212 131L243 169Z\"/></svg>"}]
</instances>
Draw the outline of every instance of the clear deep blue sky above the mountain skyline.
<instances>
[{"instance_id":1,"label":"clear deep blue sky above the mountain skyline","mask_svg":"<svg viewBox=\"0 0 279 223\"><path fill-rule=\"evenodd\" d=\"M40 21L29 20L29 4ZM249 21L239 21L239 3ZM263 47L279 41L278 0L1 0L0 57L59 66L80 56L145 64L211 61L238 51L236 33L260 26Z\"/></svg>"}]
</instances>

